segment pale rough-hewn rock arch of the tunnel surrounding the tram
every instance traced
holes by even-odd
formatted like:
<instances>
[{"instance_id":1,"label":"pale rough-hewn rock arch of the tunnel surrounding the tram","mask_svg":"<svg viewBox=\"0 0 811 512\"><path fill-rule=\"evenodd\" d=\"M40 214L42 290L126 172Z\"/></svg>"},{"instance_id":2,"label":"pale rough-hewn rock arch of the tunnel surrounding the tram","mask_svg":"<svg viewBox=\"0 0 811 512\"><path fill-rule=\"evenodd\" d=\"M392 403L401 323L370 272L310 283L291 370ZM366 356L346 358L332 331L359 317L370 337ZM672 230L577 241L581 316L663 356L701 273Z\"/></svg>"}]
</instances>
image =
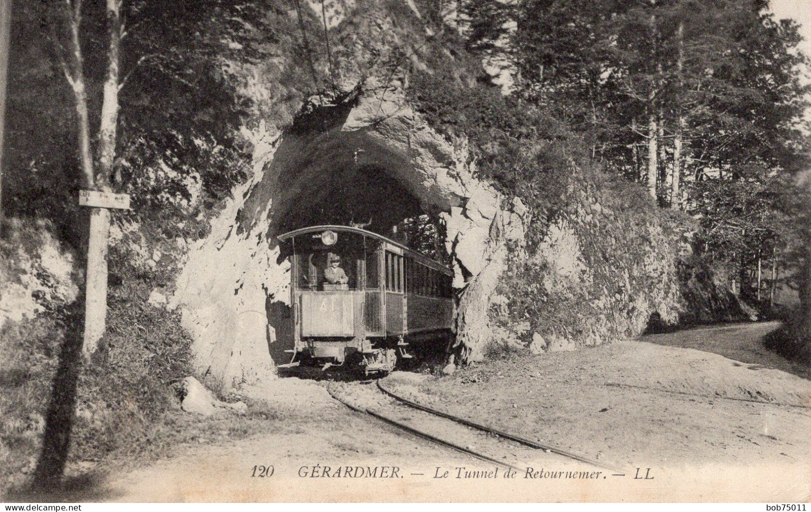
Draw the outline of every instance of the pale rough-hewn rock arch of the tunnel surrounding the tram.
<instances>
[{"instance_id":1,"label":"pale rough-hewn rock arch of the tunnel surrounding the tram","mask_svg":"<svg viewBox=\"0 0 811 512\"><path fill-rule=\"evenodd\" d=\"M366 229L385 235L420 213L444 227L461 290L457 344L463 359L478 359L505 246L522 240L523 219L474 178L462 141L438 135L392 88L315 105L265 135L255 136L253 179L192 248L170 303L192 333L201 376L228 388L272 378L288 362L289 262L279 257L278 234L370 222Z\"/></svg>"}]
</instances>

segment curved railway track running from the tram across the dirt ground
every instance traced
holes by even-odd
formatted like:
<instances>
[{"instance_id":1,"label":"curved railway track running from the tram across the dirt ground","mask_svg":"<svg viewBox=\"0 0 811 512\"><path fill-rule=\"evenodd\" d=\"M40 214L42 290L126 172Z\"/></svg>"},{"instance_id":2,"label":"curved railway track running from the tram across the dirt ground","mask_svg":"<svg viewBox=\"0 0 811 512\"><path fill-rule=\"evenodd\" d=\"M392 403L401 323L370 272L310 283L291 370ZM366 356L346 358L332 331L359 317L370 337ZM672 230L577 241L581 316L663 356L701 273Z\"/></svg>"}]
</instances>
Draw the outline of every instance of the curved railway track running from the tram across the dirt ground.
<instances>
[{"instance_id":1,"label":"curved railway track running from the tram across the dirt ground","mask_svg":"<svg viewBox=\"0 0 811 512\"><path fill-rule=\"evenodd\" d=\"M332 382L328 393L358 413L457 450L480 461L524 471L526 467L603 468L603 463L477 424L403 398L380 381Z\"/></svg>"}]
</instances>

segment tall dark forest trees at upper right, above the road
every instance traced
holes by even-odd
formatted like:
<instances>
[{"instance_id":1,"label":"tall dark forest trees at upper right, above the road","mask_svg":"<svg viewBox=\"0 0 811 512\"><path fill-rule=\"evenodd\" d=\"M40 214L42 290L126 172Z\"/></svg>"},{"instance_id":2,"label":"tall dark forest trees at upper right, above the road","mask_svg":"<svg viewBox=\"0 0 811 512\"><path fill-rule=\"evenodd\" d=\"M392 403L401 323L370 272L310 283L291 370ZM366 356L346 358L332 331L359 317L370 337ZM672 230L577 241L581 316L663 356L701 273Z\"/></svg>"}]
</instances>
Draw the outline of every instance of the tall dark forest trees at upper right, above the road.
<instances>
[{"instance_id":1,"label":"tall dark forest trees at upper right, above the road","mask_svg":"<svg viewBox=\"0 0 811 512\"><path fill-rule=\"evenodd\" d=\"M749 295L778 259L783 174L807 166L798 26L762 0L463 2L470 47L610 174L700 219L694 247ZM754 292L751 291L752 295Z\"/></svg>"}]
</instances>

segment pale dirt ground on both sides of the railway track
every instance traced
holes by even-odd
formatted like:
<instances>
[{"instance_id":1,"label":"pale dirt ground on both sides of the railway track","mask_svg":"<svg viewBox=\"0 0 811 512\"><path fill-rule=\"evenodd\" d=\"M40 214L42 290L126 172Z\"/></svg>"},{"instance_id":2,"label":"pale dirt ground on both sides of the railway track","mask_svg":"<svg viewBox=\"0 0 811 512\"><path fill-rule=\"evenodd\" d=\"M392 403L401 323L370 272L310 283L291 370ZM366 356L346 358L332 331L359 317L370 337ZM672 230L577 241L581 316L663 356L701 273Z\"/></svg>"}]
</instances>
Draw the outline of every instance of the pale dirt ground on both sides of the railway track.
<instances>
[{"instance_id":1,"label":"pale dirt ground on both sides of the railway track","mask_svg":"<svg viewBox=\"0 0 811 512\"><path fill-rule=\"evenodd\" d=\"M725 350L756 354L743 340L756 344L768 327L685 331L658 335L657 344L620 342L537 357L507 354L453 376L396 372L386 380L407 398L597 458L623 473L575 475L574 464L556 463L494 475L487 463L349 411L323 384L288 378L251 391L285 412L278 432L189 446L180 457L110 480L106 499L807 500L811 382L768 368L777 364L756 356L742 364L677 346L728 335L740 344L720 342ZM252 476L261 465L272 465L273 475ZM339 477L337 467L344 468ZM376 475L367 475L374 468ZM435 478L444 471L445 478Z\"/></svg>"}]
</instances>

